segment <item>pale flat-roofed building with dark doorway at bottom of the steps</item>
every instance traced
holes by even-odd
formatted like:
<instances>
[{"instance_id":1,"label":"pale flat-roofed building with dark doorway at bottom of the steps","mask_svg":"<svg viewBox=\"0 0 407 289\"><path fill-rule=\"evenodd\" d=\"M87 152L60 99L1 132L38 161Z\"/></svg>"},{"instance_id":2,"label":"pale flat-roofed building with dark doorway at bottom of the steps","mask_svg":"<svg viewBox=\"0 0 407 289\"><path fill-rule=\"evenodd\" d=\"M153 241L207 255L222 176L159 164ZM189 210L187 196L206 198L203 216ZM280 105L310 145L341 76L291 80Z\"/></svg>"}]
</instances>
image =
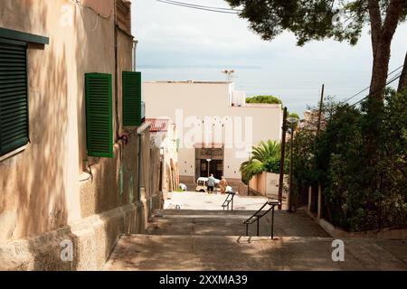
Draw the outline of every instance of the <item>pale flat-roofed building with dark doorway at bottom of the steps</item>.
<instances>
[{"instance_id":1,"label":"pale flat-roofed building with dark doorway at bottom of the steps","mask_svg":"<svg viewBox=\"0 0 407 289\"><path fill-rule=\"evenodd\" d=\"M146 117L168 117L176 124L180 182L207 176L209 167L237 189L251 147L280 140L281 106L246 104L245 93L232 82L147 81L142 89Z\"/></svg>"}]
</instances>

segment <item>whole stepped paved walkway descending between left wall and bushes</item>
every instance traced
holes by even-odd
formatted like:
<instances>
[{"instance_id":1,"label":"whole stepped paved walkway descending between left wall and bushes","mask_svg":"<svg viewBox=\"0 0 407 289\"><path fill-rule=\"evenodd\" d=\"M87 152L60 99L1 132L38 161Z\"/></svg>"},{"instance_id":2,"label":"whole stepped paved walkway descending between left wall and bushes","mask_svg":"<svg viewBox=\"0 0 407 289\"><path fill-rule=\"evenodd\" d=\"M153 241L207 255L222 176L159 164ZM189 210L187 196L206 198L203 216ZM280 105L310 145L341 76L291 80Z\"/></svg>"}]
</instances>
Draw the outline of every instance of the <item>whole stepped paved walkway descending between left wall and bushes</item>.
<instances>
[{"instance_id":1,"label":"whole stepped paved walkway descending between left wall and bushes","mask_svg":"<svg viewBox=\"0 0 407 289\"><path fill-rule=\"evenodd\" d=\"M276 211L260 222L260 237L245 237L242 219L264 198L236 197L236 211L219 210L224 196L175 193L147 235L118 240L105 270L407 270L402 241L345 239L345 262L332 261L332 241L303 212ZM181 210L172 206L182 202ZM159 216L159 217L158 217ZM255 235L251 225L250 235Z\"/></svg>"}]
</instances>

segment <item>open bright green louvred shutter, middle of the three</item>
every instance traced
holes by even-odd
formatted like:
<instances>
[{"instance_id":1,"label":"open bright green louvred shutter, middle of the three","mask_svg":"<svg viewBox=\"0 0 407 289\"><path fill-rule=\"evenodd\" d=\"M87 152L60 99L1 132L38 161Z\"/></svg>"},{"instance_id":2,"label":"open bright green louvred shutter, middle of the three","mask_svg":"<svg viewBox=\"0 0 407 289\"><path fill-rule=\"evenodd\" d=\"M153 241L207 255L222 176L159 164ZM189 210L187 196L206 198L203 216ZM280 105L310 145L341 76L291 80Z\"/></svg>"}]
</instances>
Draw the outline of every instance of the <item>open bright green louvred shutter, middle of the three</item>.
<instances>
[{"instance_id":1,"label":"open bright green louvred shutter, middle of the three","mask_svg":"<svg viewBox=\"0 0 407 289\"><path fill-rule=\"evenodd\" d=\"M113 157L111 75L85 74L88 155Z\"/></svg>"}]
</instances>

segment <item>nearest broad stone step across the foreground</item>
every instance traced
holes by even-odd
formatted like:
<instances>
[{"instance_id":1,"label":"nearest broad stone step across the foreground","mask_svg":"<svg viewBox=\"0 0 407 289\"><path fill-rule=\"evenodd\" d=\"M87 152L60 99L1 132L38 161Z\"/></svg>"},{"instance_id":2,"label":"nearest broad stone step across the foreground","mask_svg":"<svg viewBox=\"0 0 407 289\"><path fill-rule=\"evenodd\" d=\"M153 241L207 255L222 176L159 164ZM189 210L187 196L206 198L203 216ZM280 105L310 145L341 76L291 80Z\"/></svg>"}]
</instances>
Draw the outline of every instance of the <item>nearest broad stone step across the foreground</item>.
<instances>
[{"instance_id":1,"label":"nearest broad stone step across the foreground","mask_svg":"<svg viewBox=\"0 0 407 289\"><path fill-rule=\"evenodd\" d=\"M407 270L406 256L394 256L374 241L364 246L345 240L345 262L334 262L332 240L131 235L118 240L104 270L365 270L372 269L372 258L374 270Z\"/></svg>"}]
</instances>

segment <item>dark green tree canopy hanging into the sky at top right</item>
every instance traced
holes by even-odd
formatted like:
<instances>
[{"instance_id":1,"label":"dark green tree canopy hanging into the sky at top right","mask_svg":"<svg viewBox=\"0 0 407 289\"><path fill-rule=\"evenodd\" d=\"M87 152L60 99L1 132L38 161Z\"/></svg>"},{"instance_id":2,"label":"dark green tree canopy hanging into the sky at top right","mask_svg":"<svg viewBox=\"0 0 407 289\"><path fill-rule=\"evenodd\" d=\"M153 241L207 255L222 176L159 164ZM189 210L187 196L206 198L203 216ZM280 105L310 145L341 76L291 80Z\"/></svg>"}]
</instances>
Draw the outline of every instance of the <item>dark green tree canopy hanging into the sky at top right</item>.
<instances>
[{"instance_id":1,"label":"dark green tree canopy hanging into the sky at top right","mask_svg":"<svg viewBox=\"0 0 407 289\"><path fill-rule=\"evenodd\" d=\"M294 33L298 45L311 40L333 38L355 45L361 36L364 24L368 23L368 1L341 1L339 6L334 0L226 0L232 7L241 7L241 18L249 21L251 30L260 34L266 41L273 40L280 33ZM390 0L378 1L380 10L385 14ZM339 10L341 9L341 10ZM338 14L340 13L340 14ZM407 5L402 8L400 21L404 21ZM333 21L339 15L340 21Z\"/></svg>"}]
</instances>

